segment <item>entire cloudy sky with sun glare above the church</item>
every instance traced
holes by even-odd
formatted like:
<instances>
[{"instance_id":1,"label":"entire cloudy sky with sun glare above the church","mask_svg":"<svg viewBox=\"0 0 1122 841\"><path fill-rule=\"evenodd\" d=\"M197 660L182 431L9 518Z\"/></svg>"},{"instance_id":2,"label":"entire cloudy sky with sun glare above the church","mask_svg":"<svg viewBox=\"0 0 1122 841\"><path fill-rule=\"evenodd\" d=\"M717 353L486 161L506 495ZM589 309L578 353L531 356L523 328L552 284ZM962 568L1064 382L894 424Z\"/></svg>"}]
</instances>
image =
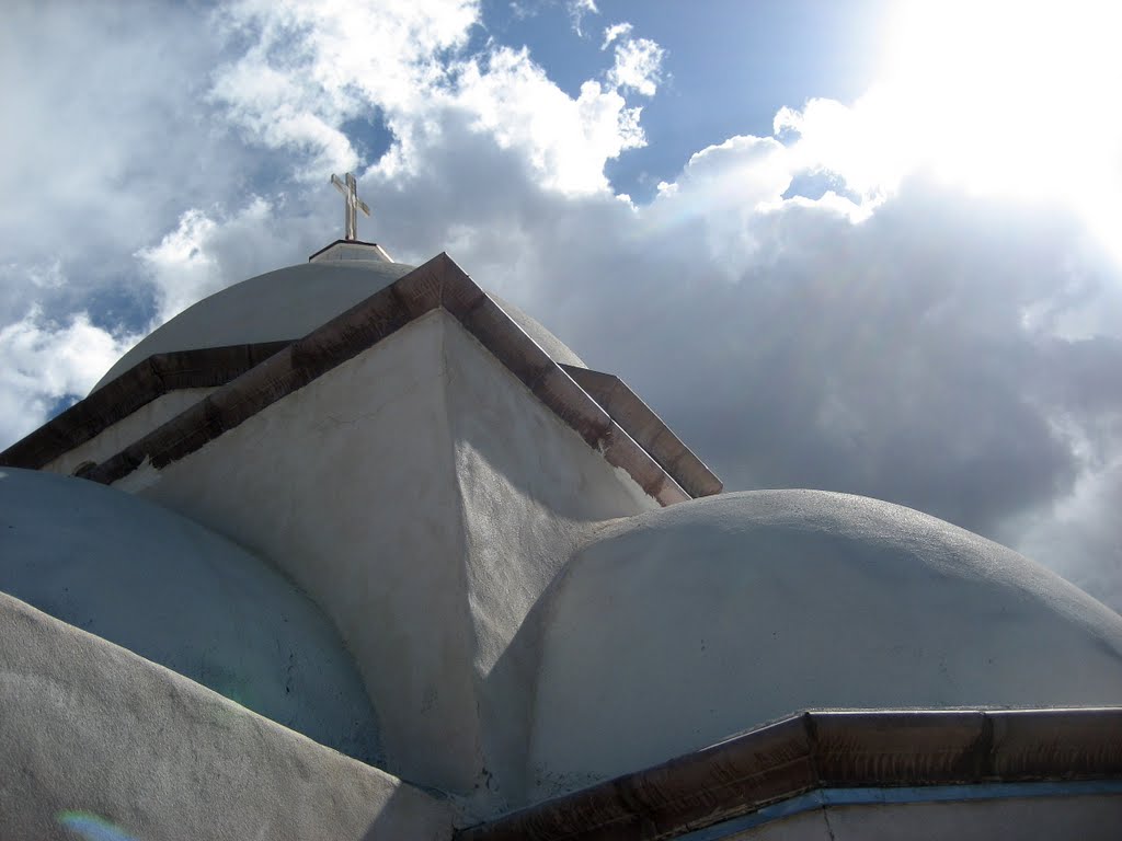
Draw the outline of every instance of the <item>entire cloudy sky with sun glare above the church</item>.
<instances>
[{"instance_id":1,"label":"entire cloudy sky with sun glare above the church","mask_svg":"<svg viewBox=\"0 0 1122 841\"><path fill-rule=\"evenodd\" d=\"M340 234L447 250L732 489L1122 607L1122 59L1092 2L10 3L0 443Z\"/></svg>"}]
</instances>

